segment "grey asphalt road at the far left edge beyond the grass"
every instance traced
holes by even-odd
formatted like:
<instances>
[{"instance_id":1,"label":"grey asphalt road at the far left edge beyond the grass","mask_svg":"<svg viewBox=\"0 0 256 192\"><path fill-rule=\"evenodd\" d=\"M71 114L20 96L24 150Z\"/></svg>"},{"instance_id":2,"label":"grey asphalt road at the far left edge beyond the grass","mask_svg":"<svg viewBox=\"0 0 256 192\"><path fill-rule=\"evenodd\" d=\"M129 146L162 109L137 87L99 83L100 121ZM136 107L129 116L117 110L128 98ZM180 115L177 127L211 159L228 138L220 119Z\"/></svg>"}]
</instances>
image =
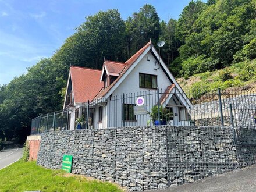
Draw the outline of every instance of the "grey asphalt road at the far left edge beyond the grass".
<instances>
[{"instance_id":1,"label":"grey asphalt road at the far left edge beyond the grass","mask_svg":"<svg viewBox=\"0 0 256 192\"><path fill-rule=\"evenodd\" d=\"M23 148L19 145L8 146L0 151L0 169L22 158Z\"/></svg>"}]
</instances>

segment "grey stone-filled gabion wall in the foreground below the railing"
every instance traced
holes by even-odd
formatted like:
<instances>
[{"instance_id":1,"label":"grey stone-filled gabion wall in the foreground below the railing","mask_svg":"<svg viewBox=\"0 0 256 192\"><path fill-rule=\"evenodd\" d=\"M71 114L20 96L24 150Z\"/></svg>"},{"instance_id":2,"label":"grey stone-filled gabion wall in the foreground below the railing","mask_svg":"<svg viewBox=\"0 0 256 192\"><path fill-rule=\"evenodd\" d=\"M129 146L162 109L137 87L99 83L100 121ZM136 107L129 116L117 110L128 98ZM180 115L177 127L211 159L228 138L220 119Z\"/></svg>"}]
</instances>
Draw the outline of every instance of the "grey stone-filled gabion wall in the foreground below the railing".
<instances>
[{"instance_id":1,"label":"grey stone-filled gabion wall in the foreground below the railing","mask_svg":"<svg viewBox=\"0 0 256 192\"><path fill-rule=\"evenodd\" d=\"M73 155L72 173L130 190L165 189L251 165L256 148L239 146L230 127L61 131L42 134L37 163L61 169L63 154Z\"/></svg>"}]
</instances>

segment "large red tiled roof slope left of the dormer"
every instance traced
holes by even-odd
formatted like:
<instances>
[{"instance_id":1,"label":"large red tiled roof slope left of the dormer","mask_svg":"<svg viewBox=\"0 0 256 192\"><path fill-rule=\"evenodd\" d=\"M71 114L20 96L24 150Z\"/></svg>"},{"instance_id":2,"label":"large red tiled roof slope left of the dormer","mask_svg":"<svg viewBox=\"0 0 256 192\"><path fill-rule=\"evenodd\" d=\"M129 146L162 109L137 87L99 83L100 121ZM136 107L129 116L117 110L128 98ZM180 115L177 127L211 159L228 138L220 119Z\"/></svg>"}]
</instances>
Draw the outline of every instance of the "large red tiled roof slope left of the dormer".
<instances>
[{"instance_id":1,"label":"large red tiled roof slope left of the dormer","mask_svg":"<svg viewBox=\"0 0 256 192\"><path fill-rule=\"evenodd\" d=\"M104 87L104 83L99 81L101 70L71 66L70 78L76 103L93 100Z\"/></svg>"}]
</instances>

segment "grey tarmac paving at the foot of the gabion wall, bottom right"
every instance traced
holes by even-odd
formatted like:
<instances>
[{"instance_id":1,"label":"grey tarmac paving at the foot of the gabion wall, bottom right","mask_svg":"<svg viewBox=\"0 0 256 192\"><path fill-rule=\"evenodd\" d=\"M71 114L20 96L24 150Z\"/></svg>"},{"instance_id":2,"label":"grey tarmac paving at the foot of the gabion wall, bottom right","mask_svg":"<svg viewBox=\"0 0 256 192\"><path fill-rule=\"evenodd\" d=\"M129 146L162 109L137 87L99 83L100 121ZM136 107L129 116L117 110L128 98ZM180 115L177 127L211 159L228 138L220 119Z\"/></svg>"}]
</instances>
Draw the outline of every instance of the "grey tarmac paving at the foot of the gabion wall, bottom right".
<instances>
[{"instance_id":1,"label":"grey tarmac paving at the foot of the gabion wall, bottom right","mask_svg":"<svg viewBox=\"0 0 256 192\"><path fill-rule=\"evenodd\" d=\"M256 165L248 168L238 169L234 172L208 177L194 183L182 186L173 186L165 190L155 190L156 192L176 192L176 191L256 191ZM151 191L152 192L152 191Z\"/></svg>"}]
</instances>

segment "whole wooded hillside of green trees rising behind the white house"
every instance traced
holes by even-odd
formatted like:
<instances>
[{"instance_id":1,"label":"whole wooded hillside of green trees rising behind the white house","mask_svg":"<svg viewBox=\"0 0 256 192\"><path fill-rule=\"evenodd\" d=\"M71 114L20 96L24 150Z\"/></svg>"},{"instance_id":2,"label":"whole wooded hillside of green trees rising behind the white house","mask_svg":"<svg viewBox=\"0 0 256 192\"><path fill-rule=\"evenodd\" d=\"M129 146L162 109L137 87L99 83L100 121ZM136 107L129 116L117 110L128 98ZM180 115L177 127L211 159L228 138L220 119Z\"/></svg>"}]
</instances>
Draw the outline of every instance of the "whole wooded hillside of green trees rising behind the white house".
<instances>
[{"instance_id":1,"label":"whole wooded hillside of green trees rising behind the white house","mask_svg":"<svg viewBox=\"0 0 256 192\"><path fill-rule=\"evenodd\" d=\"M161 56L176 77L188 79L240 63L238 73L244 76L227 74L234 81L230 86L255 80L250 61L256 58L256 0L191 1L178 20L167 23L152 5L126 20L115 9L98 12L51 58L42 58L26 74L0 86L0 139L24 141L32 118L62 108L70 65L101 69L104 57L124 62L150 38L154 45L166 42Z\"/></svg>"}]
</instances>

